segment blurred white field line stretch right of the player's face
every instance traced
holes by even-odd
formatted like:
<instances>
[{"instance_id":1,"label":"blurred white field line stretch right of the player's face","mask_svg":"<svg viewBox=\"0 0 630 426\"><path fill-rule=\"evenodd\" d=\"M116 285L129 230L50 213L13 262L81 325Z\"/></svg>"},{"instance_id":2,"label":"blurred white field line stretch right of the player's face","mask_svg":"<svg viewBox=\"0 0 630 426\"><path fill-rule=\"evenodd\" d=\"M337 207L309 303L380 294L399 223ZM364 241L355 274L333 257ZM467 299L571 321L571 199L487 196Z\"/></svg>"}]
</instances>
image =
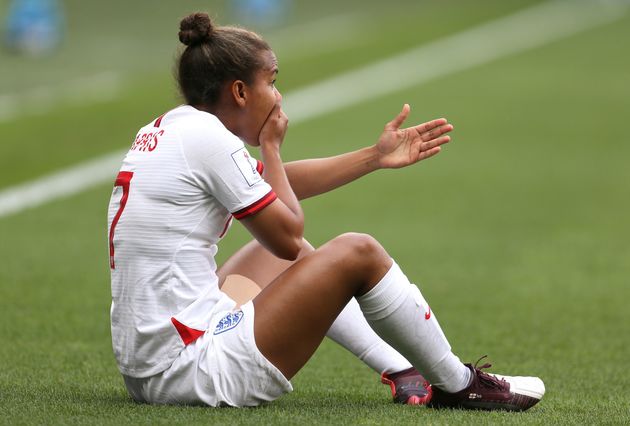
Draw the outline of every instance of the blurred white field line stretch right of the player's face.
<instances>
[{"instance_id":1,"label":"blurred white field line stretch right of the player's face","mask_svg":"<svg viewBox=\"0 0 630 426\"><path fill-rule=\"evenodd\" d=\"M606 24L627 9L627 1L545 2L292 92L283 106L291 123L311 120Z\"/></svg>"}]
</instances>

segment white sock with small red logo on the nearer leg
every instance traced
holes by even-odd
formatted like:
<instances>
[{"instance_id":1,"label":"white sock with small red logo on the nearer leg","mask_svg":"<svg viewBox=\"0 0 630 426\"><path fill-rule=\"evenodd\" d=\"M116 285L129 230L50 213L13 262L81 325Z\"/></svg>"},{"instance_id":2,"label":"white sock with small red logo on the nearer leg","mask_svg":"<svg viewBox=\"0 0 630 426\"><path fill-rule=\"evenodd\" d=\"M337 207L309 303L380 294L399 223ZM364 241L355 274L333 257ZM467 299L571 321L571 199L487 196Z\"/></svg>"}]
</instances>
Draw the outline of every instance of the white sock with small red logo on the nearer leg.
<instances>
[{"instance_id":1,"label":"white sock with small red logo on the nearer leg","mask_svg":"<svg viewBox=\"0 0 630 426\"><path fill-rule=\"evenodd\" d=\"M445 392L470 383L470 370L451 352L435 314L396 262L376 286L357 298L372 329Z\"/></svg>"}]
</instances>

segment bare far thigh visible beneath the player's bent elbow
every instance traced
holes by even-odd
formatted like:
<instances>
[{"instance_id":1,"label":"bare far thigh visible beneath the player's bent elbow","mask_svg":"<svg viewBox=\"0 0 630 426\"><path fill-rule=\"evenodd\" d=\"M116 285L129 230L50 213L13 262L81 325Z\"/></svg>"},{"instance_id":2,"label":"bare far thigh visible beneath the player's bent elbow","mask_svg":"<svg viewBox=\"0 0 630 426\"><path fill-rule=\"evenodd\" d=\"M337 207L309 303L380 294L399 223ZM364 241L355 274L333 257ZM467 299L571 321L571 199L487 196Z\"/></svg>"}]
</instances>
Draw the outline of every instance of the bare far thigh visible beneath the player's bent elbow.
<instances>
[{"instance_id":1,"label":"bare far thigh visible beneath the player's bent elbow","mask_svg":"<svg viewBox=\"0 0 630 426\"><path fill-rule=\"evenodd\" d=\"M313 246L304 240L298 259L313 252ZM274 278L294 262L274 256L256 240L252 240L234 253L218 270L222 284L228 275L242 275L265 288Z\"/></svg>"}]
</instances>

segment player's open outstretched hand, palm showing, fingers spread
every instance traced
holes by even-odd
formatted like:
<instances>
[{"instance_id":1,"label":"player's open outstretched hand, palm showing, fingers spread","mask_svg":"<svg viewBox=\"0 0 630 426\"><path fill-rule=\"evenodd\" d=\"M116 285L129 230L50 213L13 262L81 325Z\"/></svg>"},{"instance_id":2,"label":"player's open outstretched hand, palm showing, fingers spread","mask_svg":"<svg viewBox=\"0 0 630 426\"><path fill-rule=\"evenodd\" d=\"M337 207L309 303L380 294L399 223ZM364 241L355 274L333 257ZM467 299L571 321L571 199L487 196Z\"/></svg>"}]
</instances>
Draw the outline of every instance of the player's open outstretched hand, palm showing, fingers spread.
<instances>
[{"instance_id":1,"label":"player's open outstretched hand, palm showing, fingers spread","mask_svg":"<svg viewBox=\"0 0 630 426\"><path fill-rule=\"evenodd\" d=\"M401 129L409 111L411 108L405 104L400 114L385 125L376 143L379 167L397 169L415 164L439 153L440 146L451 140L446 133L453 126L445 118Z\"/></svg>"}]
</instances>

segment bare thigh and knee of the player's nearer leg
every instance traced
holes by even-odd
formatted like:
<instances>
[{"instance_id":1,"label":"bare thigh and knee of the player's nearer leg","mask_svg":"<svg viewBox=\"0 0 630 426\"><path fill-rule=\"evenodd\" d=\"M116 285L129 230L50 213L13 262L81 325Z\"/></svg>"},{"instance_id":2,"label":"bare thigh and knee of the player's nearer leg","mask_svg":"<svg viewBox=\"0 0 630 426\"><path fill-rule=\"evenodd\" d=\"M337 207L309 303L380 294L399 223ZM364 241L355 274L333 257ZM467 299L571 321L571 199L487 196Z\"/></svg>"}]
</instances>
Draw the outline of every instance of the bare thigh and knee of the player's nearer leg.
<instances>
[{"instance_id":1,"label":"bare thigh and knee of the player's nearer leg","mask_svg":"<svg viewBox=\"0 0 630 426\"><path fill-rule=\"evenodd\" d=\"M355 294L382 278L392 260L373 238L346 234L297 261L254 299L260 351L292 377Z\"/></svg>"}]
</instances>

